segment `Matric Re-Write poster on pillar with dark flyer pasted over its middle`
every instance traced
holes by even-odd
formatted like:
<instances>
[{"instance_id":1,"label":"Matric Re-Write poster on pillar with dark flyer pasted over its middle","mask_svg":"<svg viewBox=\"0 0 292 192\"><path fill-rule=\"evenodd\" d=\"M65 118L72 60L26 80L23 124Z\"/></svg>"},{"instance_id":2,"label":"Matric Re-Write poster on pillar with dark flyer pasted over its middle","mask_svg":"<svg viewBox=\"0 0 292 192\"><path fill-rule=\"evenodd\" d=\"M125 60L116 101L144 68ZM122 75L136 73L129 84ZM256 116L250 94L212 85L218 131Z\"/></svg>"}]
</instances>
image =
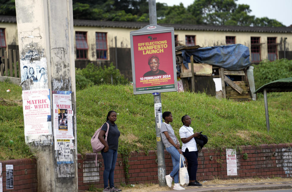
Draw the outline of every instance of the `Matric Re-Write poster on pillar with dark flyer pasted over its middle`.
<instances>
[{"instance_id":1,"label":"Matric Re-Write poster on pillar with dark flyer pasted over its middle","mask_svg":"<svg viewBox=\"0 0 292 192\"><path fill-rule=\"evenodd\" d=\"M53 91L54 138L74 139L71 91Z\"/></svg>"}]
</instances>

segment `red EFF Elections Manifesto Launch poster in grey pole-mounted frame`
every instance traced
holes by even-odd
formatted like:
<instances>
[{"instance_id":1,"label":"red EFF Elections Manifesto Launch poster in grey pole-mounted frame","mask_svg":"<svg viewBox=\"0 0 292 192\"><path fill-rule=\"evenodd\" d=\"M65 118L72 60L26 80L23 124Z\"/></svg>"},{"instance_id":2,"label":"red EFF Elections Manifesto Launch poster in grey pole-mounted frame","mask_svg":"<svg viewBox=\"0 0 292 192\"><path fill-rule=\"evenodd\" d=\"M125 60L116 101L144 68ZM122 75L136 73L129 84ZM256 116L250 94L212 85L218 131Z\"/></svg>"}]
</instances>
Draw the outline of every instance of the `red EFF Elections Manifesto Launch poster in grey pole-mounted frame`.
<instances>
[{"instance_id":1,"label":"red EFF Elections Manifesto Launch poster in grey pole-mounted frame","mask_svg":"<svg viewBox=\"0 0 292 192\"><path fill-rule=\"evenodd\" d=\"M175 89L171 32L133 36L132 49L138 94Z\"/></svg>"}]
</instances>

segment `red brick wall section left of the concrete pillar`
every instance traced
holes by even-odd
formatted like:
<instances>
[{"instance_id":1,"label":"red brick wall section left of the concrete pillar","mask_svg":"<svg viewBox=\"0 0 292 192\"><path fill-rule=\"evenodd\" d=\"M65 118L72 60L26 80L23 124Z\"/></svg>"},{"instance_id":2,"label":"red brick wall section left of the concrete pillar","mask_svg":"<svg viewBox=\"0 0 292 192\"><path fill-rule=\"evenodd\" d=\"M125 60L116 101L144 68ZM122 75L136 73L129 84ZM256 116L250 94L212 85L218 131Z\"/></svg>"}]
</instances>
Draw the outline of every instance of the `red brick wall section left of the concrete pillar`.
<instances>
[{"instance_id":1,"label":"red brick wall section left of the concrete pillar","mask_svg":"<svg viewBox=\"0 0 292 192\"><path fill-rule=\"evenodd\" d=\"M2 163L3 191L37 192L35 159L14 159ZM6 189L6 165L13 165L13 189Z\"/></svg>"}]
</instances>

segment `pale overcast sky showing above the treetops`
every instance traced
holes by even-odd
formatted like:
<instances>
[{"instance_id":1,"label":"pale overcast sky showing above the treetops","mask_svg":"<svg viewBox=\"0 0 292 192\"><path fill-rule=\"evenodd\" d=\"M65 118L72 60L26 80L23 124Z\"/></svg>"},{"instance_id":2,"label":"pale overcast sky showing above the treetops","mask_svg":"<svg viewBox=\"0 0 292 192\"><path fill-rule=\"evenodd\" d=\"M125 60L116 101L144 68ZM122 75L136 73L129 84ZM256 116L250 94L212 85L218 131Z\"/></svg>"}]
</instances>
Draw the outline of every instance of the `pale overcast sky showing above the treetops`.
<instances>
[{"instance_id":1,"label":"pale overcast sky showing above the treetops","mask_svg":"<svg viewBox=\"0 0 292 192\"><path fill-rule=\"evenodd\" d=\"M181 2L185 7L192 4L194 0L156 0L169 6L179 5ZM238 0L237 4L249 5L252 12L249 15L256 17L268 17L276 19L283 25L292 25L292 0Z\"/></svg>"}]
</instances>

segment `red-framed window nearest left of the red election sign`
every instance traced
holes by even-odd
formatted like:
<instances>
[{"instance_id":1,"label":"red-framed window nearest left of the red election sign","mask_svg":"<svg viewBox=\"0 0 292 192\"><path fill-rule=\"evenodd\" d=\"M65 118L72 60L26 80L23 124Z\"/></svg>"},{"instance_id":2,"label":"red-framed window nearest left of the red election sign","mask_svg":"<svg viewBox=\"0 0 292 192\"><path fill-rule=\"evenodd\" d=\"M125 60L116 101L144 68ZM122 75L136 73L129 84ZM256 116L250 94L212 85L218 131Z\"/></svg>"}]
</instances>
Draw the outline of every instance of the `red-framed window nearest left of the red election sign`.
<instances>
[{"instance_id":1,"label":"red-framed window nearest left of the red election sign","mask_svg":"<svg viewBox=\"0 0 292 192\"><path fill-rule=\"evenodd\" d=\"M95 33L96 58L107 59L107 33Z\"/></svg>"}]
</instances>

